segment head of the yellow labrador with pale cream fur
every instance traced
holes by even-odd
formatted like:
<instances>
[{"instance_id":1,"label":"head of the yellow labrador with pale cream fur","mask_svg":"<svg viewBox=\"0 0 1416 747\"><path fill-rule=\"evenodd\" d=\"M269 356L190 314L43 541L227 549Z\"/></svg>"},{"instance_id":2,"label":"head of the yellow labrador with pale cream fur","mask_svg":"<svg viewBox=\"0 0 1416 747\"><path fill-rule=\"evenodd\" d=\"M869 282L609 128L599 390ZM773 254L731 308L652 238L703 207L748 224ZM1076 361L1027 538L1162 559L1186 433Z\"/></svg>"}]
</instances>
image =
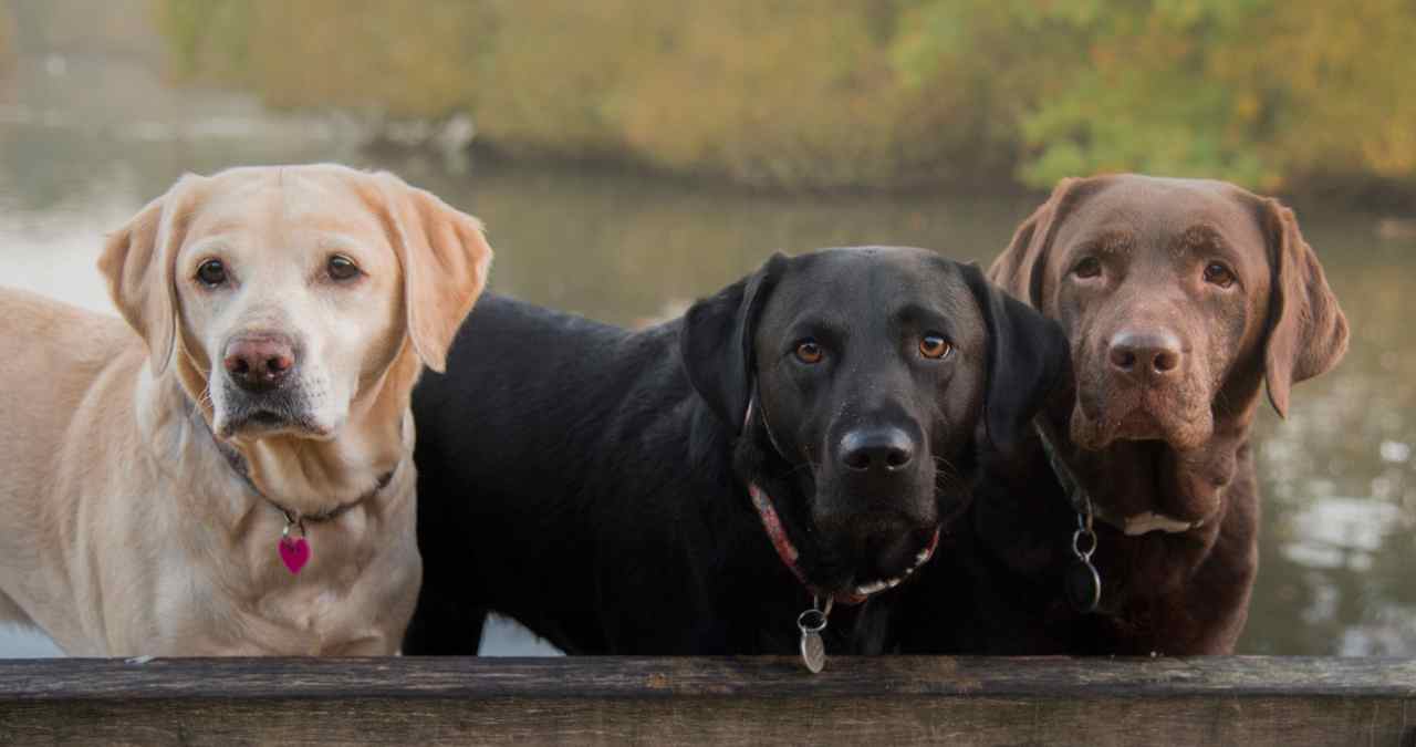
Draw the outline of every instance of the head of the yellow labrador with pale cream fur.
<instances>
[{"instance_id":1,"label":"head of the yellow labrador with pale cream fur","mask_svg":"<svg viewBox=\"0 0 1416 747\"><path fill-rule=\"evenodd\" d=\"M440 370L490 259L481 224L438 197L319 164L185 176L99 269L153 374L244 442L333 438L405 354Z\"/></svg>"}]
</instances>

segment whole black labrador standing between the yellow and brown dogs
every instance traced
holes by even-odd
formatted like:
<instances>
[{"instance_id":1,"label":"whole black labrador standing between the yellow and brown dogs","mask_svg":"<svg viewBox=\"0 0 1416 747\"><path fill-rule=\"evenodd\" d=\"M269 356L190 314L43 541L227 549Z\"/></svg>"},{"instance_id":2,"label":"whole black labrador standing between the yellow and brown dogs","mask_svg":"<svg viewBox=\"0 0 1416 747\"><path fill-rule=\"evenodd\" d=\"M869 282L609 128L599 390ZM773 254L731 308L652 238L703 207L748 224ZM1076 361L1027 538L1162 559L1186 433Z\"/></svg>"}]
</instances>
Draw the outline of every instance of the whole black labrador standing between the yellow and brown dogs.
<instances>
[{"instance_id":1,"label":"whole black labrador standing between the yellow and brown dogs","mask_svg":"<svg viewBox=\"0 0 1416 747\"><path fill-rule=\"evenodd\" d=\"M494 610L572 653L786 653L817 604L828 651L882 651L1065 369L1055 322L923 249L776 255L640 332L484 299L413 395L405 652L473 653Z\"/></svg>"}]
</instances>

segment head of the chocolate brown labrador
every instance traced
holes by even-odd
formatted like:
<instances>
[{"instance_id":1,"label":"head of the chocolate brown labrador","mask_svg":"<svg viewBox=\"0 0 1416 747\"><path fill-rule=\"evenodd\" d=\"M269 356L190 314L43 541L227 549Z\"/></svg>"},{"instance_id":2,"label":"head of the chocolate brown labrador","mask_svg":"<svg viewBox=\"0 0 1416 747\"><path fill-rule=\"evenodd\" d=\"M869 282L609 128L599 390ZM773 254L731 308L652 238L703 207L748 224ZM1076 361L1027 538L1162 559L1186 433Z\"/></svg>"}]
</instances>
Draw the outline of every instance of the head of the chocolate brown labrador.
<instances>
[{"instance_id":1,"label":"head of the chocolate brown labrador","mask_svg":"<svg viewBox=\"0 0 1416 747\"><path fill-rule=\"evenodd\" d=\"M1168 505L1100 506L1127 533L1212 517L1236 448L1228 458L1205 454L1216 428L1246 429L1264 380L1284 414L1291 386L1347 349L1347 319L1293 211L1221 181L1063 180L990 276L1066 330L1078 446L1164 444L1172 462L1209 472L1204 486L1151 483L1116 499L1155 495Z\"/></svg>"}]
</instances>

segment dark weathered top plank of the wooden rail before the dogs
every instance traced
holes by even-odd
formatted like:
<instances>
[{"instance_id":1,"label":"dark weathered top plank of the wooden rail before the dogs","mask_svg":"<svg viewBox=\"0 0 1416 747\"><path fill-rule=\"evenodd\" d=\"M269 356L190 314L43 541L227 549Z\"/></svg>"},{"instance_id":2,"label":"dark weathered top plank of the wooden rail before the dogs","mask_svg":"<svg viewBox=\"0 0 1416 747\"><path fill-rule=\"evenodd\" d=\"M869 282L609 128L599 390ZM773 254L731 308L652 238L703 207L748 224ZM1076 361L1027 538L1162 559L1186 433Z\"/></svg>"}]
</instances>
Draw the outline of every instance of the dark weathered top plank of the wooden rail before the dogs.
<instances>
[{"instance_id":1,"label":"dark weathered top plank of the wooden rail before the dogs","mask_svg":"<svg viewBox=\"0 0 1416 747\"><path fill-rule=\"evenodd\" d=\"M1063 687L1065 692L1059 692ZM306 697L1416 697L1416 659L835 656L0 661L0 703Z\"/></svg>"}]
</instances>

